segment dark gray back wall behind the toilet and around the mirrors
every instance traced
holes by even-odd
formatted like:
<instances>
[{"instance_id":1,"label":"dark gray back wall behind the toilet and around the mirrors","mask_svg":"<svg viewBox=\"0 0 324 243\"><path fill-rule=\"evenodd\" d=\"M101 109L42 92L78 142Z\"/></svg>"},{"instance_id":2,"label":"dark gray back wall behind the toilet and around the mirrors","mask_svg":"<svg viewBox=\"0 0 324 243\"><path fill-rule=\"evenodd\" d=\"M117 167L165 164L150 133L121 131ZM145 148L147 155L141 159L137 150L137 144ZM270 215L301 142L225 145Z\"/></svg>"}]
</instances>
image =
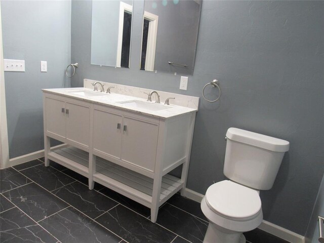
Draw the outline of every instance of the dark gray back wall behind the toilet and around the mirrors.
<instances>
[{"instance_id":1,"label":"dark gray back wall behind the toilet and around the mirrors","mask_svg":"<svg viewBox=\"0 0 324 243\"><path fill-rule=\"evenodd\" d=\"M201 98L217 78L219 102L201 99L187 187L205 194L224 180L229 127L291 142L274 186L261 192L264 219L304 235L324 172L324 2L203 1L195 68L188 90L180 76L139 70L143 2L134 2L131 64L90 65L91 2L72 1L73 87L83 78Z\"/></svg>"}]
</instances>

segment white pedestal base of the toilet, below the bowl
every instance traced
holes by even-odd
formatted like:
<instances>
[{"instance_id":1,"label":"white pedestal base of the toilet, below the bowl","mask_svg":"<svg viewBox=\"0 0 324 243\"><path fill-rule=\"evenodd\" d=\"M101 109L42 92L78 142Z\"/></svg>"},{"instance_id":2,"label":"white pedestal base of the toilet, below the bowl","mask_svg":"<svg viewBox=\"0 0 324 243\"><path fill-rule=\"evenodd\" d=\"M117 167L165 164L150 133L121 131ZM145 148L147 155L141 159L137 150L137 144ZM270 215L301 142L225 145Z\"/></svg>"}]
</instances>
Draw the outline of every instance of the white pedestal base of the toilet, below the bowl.
<instances>
[{"instance_id":1,"label":"white pedestal base of the toilet, below the bowl","mask_svg":"<svg viewBox=\"0 0 324 243\"><path fill-rule=\"evenodd\" d=\"M209 223L203 243L246 243L246 239L242 232Z\"/></svg>"}]
</instances>

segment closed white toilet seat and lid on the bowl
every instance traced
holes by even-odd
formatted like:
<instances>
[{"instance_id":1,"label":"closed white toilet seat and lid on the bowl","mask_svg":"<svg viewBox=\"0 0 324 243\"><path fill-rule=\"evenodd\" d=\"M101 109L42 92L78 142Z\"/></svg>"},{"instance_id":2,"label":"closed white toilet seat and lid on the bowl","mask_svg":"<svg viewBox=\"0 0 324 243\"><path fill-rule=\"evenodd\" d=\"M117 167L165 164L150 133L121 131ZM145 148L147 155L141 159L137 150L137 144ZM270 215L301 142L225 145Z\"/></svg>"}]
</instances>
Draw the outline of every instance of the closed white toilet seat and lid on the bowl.
<instances>
[{"instance_id":1,"label":"closed white toilet seat and lid on the bowl","mask_svg":"<svg viewBox=\"0 0 324 243\"><path fill-rule=\"evenodd\" d=\"M258 191L229 180L211 185L205 199L214 213L230 220L248 221L262 211Z\"/></svg>"}]
</instances>

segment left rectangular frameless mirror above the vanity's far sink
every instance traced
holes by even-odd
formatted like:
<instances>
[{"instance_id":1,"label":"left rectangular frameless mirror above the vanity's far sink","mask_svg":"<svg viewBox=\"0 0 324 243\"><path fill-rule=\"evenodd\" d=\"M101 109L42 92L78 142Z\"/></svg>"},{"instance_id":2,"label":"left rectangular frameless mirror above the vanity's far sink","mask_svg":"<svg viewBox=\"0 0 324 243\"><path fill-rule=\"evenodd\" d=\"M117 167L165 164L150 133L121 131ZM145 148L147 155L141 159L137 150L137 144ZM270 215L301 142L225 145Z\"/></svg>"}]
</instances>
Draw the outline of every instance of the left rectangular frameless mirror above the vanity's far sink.
<instances>
[{"instance_id":1,"label":"left rectangular frameless mirror above the vanity's far sink","mask_svg":"<svg viewBox=\"0 0 324 243\"><path fill-rule=\"evenodd\" d=\"M91 64L130 66L133 1L92 1Z\"/></svg>"}]
</instances>

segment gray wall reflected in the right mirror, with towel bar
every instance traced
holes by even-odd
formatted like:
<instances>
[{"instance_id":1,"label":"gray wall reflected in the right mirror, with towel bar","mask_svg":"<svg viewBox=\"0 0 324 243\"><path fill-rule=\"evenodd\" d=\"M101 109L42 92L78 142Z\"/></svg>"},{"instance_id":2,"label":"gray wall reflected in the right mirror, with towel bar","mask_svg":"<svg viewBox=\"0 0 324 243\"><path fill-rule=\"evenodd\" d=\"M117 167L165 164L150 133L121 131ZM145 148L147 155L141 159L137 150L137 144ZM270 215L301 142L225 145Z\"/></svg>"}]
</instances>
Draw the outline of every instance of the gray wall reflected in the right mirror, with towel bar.
<instances>
[{"instance_id":1,"label":"gray wall reflected in the right mirror, with towel bar","mask_svg":"<svg viewBox=\"0 0 324 243\"><path fill-rule=\"evenodd\" d=\"M192 74L200 5L195 1L147 1L144 10L158 16L154 70L168 73ZM156 4L154 9L152 6ZM185 68L168 61L187 64Z\"/></svg>"}]
</instances>

